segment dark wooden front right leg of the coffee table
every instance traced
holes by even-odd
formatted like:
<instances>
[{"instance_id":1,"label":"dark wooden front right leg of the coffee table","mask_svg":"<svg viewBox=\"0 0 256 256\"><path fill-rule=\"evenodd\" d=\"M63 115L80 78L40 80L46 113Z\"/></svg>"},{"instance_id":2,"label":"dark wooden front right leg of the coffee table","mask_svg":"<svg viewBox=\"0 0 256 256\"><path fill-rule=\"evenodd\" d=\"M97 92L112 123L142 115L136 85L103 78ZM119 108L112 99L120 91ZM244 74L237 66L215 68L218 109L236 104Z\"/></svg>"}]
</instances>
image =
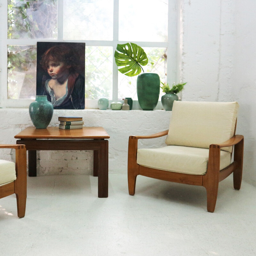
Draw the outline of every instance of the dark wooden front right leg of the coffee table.
<instances>
[{"instance_id":1,"label":"dark wooden front right leg of the coffee table","mask_svg":"<svg viewBox=\"0 0 256 256\"><path fill-rule=\"evenodd\" d=\"M98 197L108 197L108 140L102 140L98 154Z\"/></svg>"}]
</instances>

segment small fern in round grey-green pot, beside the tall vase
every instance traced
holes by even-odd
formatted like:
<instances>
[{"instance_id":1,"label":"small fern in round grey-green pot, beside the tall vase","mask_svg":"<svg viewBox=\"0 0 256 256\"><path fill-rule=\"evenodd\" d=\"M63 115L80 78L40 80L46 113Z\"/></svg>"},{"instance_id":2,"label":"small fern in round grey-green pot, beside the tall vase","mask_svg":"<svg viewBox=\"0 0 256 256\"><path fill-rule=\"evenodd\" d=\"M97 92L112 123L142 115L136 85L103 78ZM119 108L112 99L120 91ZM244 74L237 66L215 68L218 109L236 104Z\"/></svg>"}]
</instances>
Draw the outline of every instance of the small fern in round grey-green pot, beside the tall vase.
<instances>
[{"instance_id":1,"label":"small fern in round grey-green pot, beside the tall vase","mask_svg":"<svg viewBox=\"0 0 256 256\"><path fill-rule=\"evenodd\" d=\"M170 88L168 83L166 84L161 82L161 84L163 84L163 86L160 86L160 87L163 90L163 92L165 92L165 94L161 98L161 102L164 109L167 111L170 111L172 110L174 100L179 100L177 93L181 92L184 88L184 85L187 83L184 83L184 84L173 83L172 88Z\"/></svg>"}]
</instances>

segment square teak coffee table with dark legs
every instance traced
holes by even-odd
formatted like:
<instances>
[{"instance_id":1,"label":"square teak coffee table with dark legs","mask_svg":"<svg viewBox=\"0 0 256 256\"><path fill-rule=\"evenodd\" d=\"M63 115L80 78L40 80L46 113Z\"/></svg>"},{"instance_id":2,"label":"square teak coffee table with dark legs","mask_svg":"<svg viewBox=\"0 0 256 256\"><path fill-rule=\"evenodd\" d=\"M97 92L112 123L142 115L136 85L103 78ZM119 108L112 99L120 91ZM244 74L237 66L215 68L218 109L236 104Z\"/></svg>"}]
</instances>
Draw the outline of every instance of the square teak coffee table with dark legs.
<instances>
[{"instance_id":1,"label":"square teak coffee table with dark legs","mask_svg":"<svg viewBox=\"0 0 256 256\"><path fill-rule=\"evenodd\" d=\"M93 150L93 176L98 176L98 196L108 197L108 140L103 127L63 130L27 127L14 136L28 150L28 176L36 176L36 150ZM45 140L48 139L48 140Z\"/></svg>"}]
</instances>

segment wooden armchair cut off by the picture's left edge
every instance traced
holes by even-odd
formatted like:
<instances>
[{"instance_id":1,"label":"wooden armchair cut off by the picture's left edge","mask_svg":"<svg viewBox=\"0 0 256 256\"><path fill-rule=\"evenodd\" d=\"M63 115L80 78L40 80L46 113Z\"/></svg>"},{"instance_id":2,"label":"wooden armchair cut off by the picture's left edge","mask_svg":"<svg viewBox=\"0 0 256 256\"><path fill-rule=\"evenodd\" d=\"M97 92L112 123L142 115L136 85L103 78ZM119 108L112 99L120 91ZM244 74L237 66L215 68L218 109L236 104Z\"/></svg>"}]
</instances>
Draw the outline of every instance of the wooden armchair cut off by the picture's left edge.
<instances>
[{"instance_id":1,"label":"wooden armchair cut off by the picture's left edge","mask_svg":"<svg viewBox=\"0 0 256 256\"><path fill-rule=\"evenodd\" d=\"M23 218L27 199L27 154L25 145L0 145L15 149L15 164L0 160L0 198L16 194L18 217Z\"/></svg>"}]
</instances>

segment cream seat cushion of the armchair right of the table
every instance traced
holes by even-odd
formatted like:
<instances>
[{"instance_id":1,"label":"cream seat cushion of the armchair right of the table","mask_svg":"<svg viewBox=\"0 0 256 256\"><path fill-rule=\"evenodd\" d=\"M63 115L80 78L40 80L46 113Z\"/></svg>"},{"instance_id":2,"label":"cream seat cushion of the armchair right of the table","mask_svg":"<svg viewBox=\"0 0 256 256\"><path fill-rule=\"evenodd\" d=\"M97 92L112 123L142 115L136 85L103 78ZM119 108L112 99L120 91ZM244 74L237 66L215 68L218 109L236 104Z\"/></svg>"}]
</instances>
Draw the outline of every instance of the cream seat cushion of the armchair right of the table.
<instances>
[{"instance_id":1,"label":"cream seat cushion of the armchair right of the table","mask_svg":"<svg viewBox=\"0 0 256 256\"><path fill-rule=\"evenodd\" d=\"M172 172L202 175L207 171L209 149L184 146L141 148L137 151L137 164ZM220 151L220 170L231 162L231 154Z\"/></svg>"}]
</instances>

